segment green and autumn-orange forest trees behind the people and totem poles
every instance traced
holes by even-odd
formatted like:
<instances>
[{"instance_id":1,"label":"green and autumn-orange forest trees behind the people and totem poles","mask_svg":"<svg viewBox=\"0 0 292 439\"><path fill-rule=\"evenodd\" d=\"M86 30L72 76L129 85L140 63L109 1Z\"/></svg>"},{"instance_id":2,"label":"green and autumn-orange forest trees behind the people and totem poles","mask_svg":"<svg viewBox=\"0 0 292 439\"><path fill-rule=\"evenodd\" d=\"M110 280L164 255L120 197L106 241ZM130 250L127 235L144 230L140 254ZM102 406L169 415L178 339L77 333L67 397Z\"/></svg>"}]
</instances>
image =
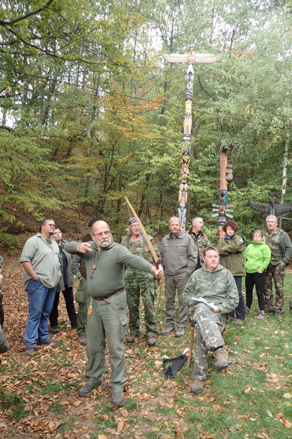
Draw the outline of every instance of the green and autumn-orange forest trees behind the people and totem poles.
<instances>
[{"instance_id":1,"label":"green and autumn-orange forest trees behind the people and totem poles","mask_svg":"<svg viewBox=\"0 0 292 439\"><path fill-rule=\"evenodd\" d=\"M216 239L224 140L228 204L249 238L264 215L248 200L268 202L272 190L279 202L284 164L291 179L291 25L291 0L1 1L1 240L17 247L15 233L45 216L76 233L101 216L118 239L125 196L149 233L167 233L187 64L162 53L187 53L190 42L223 56L195 65L187 223L200 215Z\"/></svg>"}]
</instances>

